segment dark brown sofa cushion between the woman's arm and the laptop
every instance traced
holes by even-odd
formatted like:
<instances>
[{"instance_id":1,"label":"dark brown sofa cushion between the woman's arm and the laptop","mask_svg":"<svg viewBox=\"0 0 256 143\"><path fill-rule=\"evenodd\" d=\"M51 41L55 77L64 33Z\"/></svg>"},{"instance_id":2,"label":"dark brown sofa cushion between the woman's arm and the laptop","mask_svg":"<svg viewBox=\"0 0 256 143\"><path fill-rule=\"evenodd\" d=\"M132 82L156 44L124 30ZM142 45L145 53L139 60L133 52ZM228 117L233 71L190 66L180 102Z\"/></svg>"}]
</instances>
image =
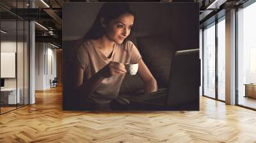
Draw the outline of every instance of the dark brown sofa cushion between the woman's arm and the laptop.
<instances>
[{"instance_id":1,"label":"dark brown sofa cushion between the woman's arm and the laptop","mask_svg":"<svg viewBox=\"0 0 256 143\"><path fill-rule=\"evenodd\" d=\"M175 46L164 36L137 38L138 50L143 61L157 80L159 87L167 87Z\"/></svg>"}]
</instances>

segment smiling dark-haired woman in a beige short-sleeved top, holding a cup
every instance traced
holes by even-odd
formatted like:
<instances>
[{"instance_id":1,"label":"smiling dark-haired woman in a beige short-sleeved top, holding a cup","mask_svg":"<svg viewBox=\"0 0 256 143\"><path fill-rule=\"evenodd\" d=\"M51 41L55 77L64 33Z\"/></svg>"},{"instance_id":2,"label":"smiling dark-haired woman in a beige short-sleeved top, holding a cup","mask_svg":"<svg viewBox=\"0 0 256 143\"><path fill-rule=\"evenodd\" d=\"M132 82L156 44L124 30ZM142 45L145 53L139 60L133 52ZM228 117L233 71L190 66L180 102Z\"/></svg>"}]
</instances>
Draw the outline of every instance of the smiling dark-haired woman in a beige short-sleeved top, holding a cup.
<instances>
[{"instance_id":1,"label":"smiling dark-haired woman in a beige short-sleeved top, holding a cup","mask_svg":"<svg viewBox=\"0 0 256 143\"><path fill-rule=\"evenodd\" d=\"M157 91L156 79L141 59L138 49L127 40L134 19L129 4L105 3L93 26L79 43L73 58L76 63L74 87L81 95L79 104L83 107L104 110L109 108L111 101L118 99L127 72L125 63L138 63L138 74L145 83L145 93Z\"/></svg>"}]
</instances>

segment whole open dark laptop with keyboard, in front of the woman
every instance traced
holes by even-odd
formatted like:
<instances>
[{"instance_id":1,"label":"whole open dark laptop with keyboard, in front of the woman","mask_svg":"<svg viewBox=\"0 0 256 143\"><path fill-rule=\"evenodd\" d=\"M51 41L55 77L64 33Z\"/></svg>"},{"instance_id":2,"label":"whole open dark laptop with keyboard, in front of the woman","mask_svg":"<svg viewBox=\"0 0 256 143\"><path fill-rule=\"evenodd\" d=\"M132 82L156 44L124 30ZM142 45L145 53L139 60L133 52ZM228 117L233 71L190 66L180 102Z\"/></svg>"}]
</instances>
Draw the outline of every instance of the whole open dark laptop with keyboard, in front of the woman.
<instances>
[{"instance_id":1,"label":"whole open dark laptop with keyboard, in front of the woman","mask_svg":"<svg viewBox=\"0 0 256 143\"><path fill-rule=\"evenodd\" d=\"M170 66L168 87L127 98L136 110L199 110L199 49L178 50Z\"/></svg>"}]
</instances>

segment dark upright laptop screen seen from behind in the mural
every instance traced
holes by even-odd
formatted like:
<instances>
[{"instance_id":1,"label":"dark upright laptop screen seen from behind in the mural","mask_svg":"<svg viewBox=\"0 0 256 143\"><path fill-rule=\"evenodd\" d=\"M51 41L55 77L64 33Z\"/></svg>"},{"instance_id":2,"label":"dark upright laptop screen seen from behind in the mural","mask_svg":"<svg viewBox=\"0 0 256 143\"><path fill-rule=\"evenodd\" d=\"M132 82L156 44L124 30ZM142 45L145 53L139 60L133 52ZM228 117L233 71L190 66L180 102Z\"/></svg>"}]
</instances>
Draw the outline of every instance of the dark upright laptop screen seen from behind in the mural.
<instances>
[{"instance_id":1,"label":"dark upright laptop screen seen from behind in the mural","mask_svg":"<svg viewBox=\"0 0 256 143\"><path fill-rule=\"evenodd\" d=\"M178 50L172 60L166 104L180 110L199 110L199 49Z\"/></svg>"}]
</instances>

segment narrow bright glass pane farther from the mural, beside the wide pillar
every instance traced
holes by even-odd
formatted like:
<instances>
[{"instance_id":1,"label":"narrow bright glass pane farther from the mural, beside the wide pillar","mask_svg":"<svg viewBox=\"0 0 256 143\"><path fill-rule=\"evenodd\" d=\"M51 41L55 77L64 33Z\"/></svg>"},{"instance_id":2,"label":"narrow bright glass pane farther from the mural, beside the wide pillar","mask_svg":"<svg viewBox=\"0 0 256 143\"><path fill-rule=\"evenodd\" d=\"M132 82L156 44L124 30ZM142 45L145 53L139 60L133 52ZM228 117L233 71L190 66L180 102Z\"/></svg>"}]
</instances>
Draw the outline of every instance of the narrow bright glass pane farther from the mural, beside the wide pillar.
<instances>
[{"instance_id":1,"label":"narrow bright glass pane farther from the mural, beside the wide pillar","mask_svg":"<svg viewBox=\"0 0 256 143\"><path fill-rule=\"evenodd\" d=\"M225 19L218 23L218 99L225 101Z\"/></svg>"}]
</instances>

